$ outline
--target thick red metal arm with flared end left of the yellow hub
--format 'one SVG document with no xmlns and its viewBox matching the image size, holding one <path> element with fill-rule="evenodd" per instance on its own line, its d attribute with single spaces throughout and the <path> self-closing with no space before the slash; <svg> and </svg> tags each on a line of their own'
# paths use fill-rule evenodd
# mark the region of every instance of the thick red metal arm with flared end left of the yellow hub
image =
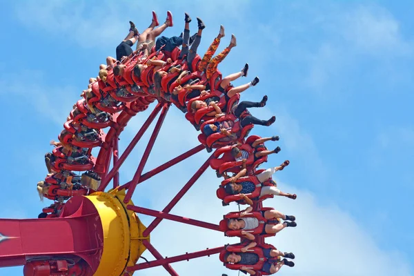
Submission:
<svg viewBox="0 0 414 276">
<path fill-rule="evenodd" d="M 44 255 L 72 261 L 80 257 L 90 275 L 99 265 L 103 248 L 101 219 L 85 197 L 72 197 L 59 218 L 0 219 L 0 225 L 0 267 L 21 266 Z"/>
</svg>

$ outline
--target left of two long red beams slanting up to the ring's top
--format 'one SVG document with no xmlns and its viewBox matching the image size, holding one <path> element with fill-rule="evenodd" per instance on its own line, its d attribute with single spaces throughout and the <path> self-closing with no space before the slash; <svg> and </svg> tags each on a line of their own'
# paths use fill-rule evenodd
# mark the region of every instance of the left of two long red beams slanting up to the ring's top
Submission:
<svg viewBox="0 0 414 276">
<path fill-rule="evenodd" d="M 105 190 L 106 186 L 108 186 L 109 181 L 112 180 L 112 178 L 118 172 L 121 165 L 124 164 L 124 161 L 125 161 L 126 157 L 128 157 L 128 155 L 130 155 L 132 150 L 137 145 L 139 139 L 141 139 L 142 135 L 144 135 L 144 133 L 146 132 L 146 130 L 148 129 L 148 127 L 150 126 L 152 121 L 154 121 L 155 117 L 157 117 L 157 114 L 158 114 L 159 110 L 161 110 L 161 108 L 162 108 L 161 103 L 158 103 L 157 106 L 155 106 L 154 110 L 152 110 L 152 112 L 151 112 L 150 116 L 148 117 L 148 119 L 146 119 L 145 123 L 141 126 L 141 129 L 139 129 L 139 131 L 137 132 L 137 135 L 135 135 L 134 139 L 132 139 L 132 141 L 130 142 L 128 147 L 122 153 L 121 157 L 119 157 L 119 160 L 117 161 L 117 164 L 113 164 L 112 170 L 110 170 L 110 172 L 108 172 L 108 175 L 106 175 L 106 177 L 104 177 L 102 179 L 101 185 L 99 186 L 99 189 L 98 189 L 99 191 Z"/>
</svg>

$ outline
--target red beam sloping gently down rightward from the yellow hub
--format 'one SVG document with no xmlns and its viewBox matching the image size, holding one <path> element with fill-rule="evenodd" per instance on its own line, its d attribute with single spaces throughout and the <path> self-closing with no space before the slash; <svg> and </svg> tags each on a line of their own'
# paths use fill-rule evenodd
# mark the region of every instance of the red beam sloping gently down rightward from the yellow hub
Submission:
<svg viewBox="0 0 414 276">
<path fill-rule="evenodd" d="M 136 213 L 140 213 L 140 214 L 144 214 L 144 215 L 150 215 L 152 217 L 159 217 L 161 219 L 170 219 L 172 221 L 181 222 L 183 224 L 190 224 L 190 225 L 193 225 L 193 226 L 198 226 L 198 227 L 207 228 L 207 229 L 210 229 L 210 230 L 216 230 L 216 231 L 222 232 L 217 224 L 210 224 L 208 222 L 199 221 L 197 219 L 189 219 L 188 217 L 180 217 L 180 216 L 177 216 L 177 215 L 171 215 L 171 214 L 168 214 L 168 213 L 164 213 L 164 212 L 160 212 L 160 211 L 156 211 L 156 210 L 151 210 L 151 209 L 147 209 L 147 208 L 143 208 L 143 207 L 133 206 L 133 205 L 128 205 L 126 208 L 128 210 L 133 210 Z"/>
</svg>

